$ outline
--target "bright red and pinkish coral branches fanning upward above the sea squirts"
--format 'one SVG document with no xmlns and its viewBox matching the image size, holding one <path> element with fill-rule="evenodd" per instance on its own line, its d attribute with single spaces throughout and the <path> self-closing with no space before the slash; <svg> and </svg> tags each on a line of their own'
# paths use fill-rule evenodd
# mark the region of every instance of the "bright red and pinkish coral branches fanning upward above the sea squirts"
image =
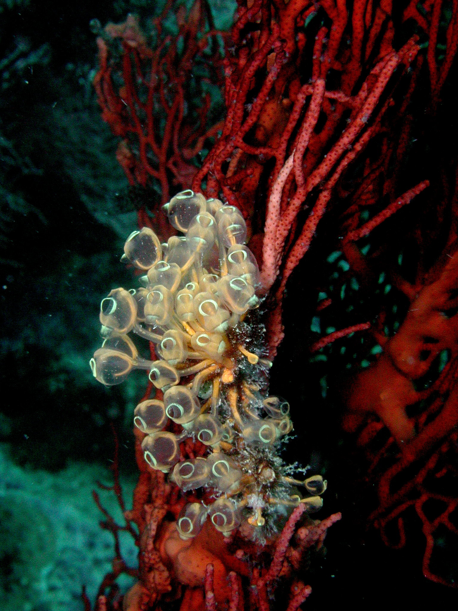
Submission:
<svg viewBox="0 0 458 611">
<path fill-rule="evenodd" d="M 308 2 L 275 4 L 275 21 L 269 12 L 263 12 L 262 2 L 253 4 L 250 15 L 257 15 L 258 24 L 246 32 L 242 23 L 254 18 L 243 13 L 242 22 L 233 31 L 234 42 L 244 40 L 243 54 L 230 55 L 226 60 L 227 120 L 193 181 L 193 188 L 199 190 L 206 180 L 209 195 L 222 194 L 242 210 L 252 222 L 253 232 L 261 230 L 265 210 L 261 280 L 264 291 L 274 288 L 275 295 L 268 327 L 271 356 L 283 337 L 281 302 L 286 282 L 310 248 L 319 221 L 335 205 L 338 181 L 383 130 L 385 115 L 393 105 L 388 90 L 392 96 L 402 82 L 403 71 L 415 62 L 419 51 L 415 37 L 398 51 L 390 48 L 390 39 L 385 37 L 373 65 L 368 64 L 380 21 L 376 13 L 374 21 L 366 16 L 363 22 L 362 12 L 357 12 L 352 27 L 369 32 L 371 48 L 362 48 L 363 33 L 358 32 L 352 55 L 338 61 L 347 28 L 345 3 L 338 4 L 337 9 L 327 2 L 322 3 L 322 9 L 319 6 L 315 10 L 324 10 L 335 24 L 329 40 L 325 38 L 327 27 L 317 31 L 310 59 L 305 56 L 305 46 L 289 38 L 280 44 L 278 34 L 278 24 L 288 29 L 292 23 L 302 23 L 306 12 L 313 14 Z M 357 57 L 366 59 L 357 61 Z M 297 76 L 291 79 L 289 75 L 294 75 L 296 65 L 304 61 L 309 62 L 310 81 L 303 84 Z M 340 71 L 341 89 L 327 89 L 330 70 Z M 357 86 L 363 70 L 366 78 Z M 262 83 L 260 87 L 257 81 Z M 336 133 L 344 120 L 343 131 Z M 253 207 L 253 202 L 265 197 L 259 180 L 271 160 L 275 166 L 267 181 L 266 203 Z M 391 208 L 381 213 L 380 220 L 390 213 Z"/>
</svg>

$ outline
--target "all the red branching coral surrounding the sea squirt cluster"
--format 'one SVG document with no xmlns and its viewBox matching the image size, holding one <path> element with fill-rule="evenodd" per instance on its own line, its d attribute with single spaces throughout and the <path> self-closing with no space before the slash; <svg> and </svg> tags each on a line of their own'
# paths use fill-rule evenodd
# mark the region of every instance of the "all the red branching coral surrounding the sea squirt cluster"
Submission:
<svg viewBox="0 0 458 611">
<path fill-rule="evenodd" d="M 183 51 L 177 39 L 163 31 L 161 18 L 153 24 L 152 47 L 134 18 L 111 24 L 99 39 L 101 67 L 95 86 L 104 119 L 122 138 L 118 160 L 129 181 L 140 185 L 150 181 L 161 192 L 162 203 L 169 200 L 173 184 L 178 190 L 192 181 L 194 191 L 221 197 L 244 215 L 250 247 L 261 264 L 271 357 L 283 338 L 282 300 L 288 281 L 320 238 L 324 223 L 328 243 L 342 240 L 349 265 L 370 284 L 376 273 L 355 241 L 382 231 L 400 208 L 413 208 L 405 206 L 413 197 L 419 197 L 418 207 L 424 202 L 429 177 L 405 183 L 402 159 L 412 144 L 409 113 L 413 102 L 418 103 L 422 66 L 429 70 L 432 95 L 420 106 L 422 112 L 434 112 L 456 54 L 455 1 L 452 9 L 447 23 L 442 0 L 411 2 L 404 12 L 404 20 L 412 26 L 406 35 L 390 2 L 241 1 L 224 59 L 219 35 L 200 2 L 187 16 L 181 9 L 178 13 Z M 442 57 L 438 46 L 443 39 Z M 117 43 L 122 63 L 114 59 Z M 213 68 L 224 67 L 224 122 L 207 124 L 208 99 L 187 112 L 192 96 L 186 85 L 198 62 L 218 83 L 218 70 Z M 199 168 L 195 156 L 212 142 Z M 396 197 L 399 192 L 404 195 Z M 139 220 L 150 223 L 145 210 Z M 402 544 L 402 514 L 415 507 L 427 538 L 427 573 L 435 530 L 439 525 L 451 532 L 455 528 L 453 500 L 435 497 L 426 481 L 431 474 L 442 477 L 442 469 L 449 474 L 455 451 L 451 440 L 458 424 L 456 313 L 452 313 L 457 307 L 456 240 L 449 240 L 448 251 L 451 261 L 442 262 L 429 277 L 419 274 L 412 284 L 398 278 L 411 299 L 409 313 L 394 337 L 385 337 L 382 315 L 371 326 L 382 354 L 373 367 L 355 376 L 346 419 L 346 428 L 357 430 L 365 426 L 368 414 L 379 417 L 381 422 L 373 419 L 363 430 L 360 441 L 366 447 L 383 425 L 390 431 L 390 439 L 371 457 L 371 472 L 399 446 L 392 466 L 380 475 L 380 507 L 373 519 L 383 536 L 385 526 L 398 519 Z M 324 349 L 338 338 L 368 328 L 369 323 L 346 326 L 312 349 Z M 426 375 L 446 349 L 451 358 L 437 382 L 428 392 L 416 389 L 414 381 Z M 150 390 L 148 386 L 145 399 Z M 429 407 L 411 415 L 408 408 L 422 400 L 431 400 Z M 237 405 L 231 408 L 237 414 Z M 140 447 L 143 435 L 138 431 L 136 435 L 140 477 L 133 509 L 125 516 L 140 533 L 139 582 L 126 595 L 125 608 L 147 609 L 180 599 L 182 611 L 217 606 L 234 611 L 246 599 L 253 609 L 267 611 L 283 580 L 289 587 L 285 608 L 296 611 L 310 594 L 297 573 L 310 547 L 322 545 L 327 528 L 340 515 L 322 522 L 304 521 L 304 506 L 299 505 L 282 532 L 266 541 L 263 557 L 261 544 L 249 543 L 242 533 L 224 537 L 204 525 L 194 539 L 181 539 L 175 523 L 180 511 L 190 500 L 202 502 L 202 498 L 193 496 L 193 491 L 182 494 L 164 474 L 150 469 Z M 189 439 L 180 446 L 182 459 L 194 459 L 204 451 Z M 394 478 L 420 459 L 426 471 L 420 470 L 393 491 Z M 433 498 L 446 503 L 446 508 L 431 521 L 423 506 Z M 116 540 L 121 527 L 105 517 L 105 527 Z M 114 585 L 115 573 L 104 585 L 102 598 Z M 432 576 L 431 571 L 428 574 Z"/>
</svg>

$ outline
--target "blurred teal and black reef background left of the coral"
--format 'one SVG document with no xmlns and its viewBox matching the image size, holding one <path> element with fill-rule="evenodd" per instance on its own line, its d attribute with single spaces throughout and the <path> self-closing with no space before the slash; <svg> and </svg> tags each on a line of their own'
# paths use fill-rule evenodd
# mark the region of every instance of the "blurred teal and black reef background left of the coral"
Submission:
<svg viewBox="0 0 458 611">
<path fill-rule="evenodd" d="M 214 2 L 220 27 L 234 3 Z M 100 118 L 92 20 L 158 12 L 151 2 L 0 0 L 0 608 L 83 609 L 113 558 L 92 498 L 110 484 L 114 426 L 126 504 L 137 470 L 141 376 L 107 390 L 89 359 L 136 202 Z M 144 196 L 144 195 L 143 195 Z M 141 381 L 140 381 L 141 380 Z M 139 387 L 137 386 L 139 382 Z M 119 516 L 114 494 L 104 506 Z M 136 548 L 123 540 L 136 566 Z M 120 584 L 127 588 L 128 583 Z"/>
</svg>

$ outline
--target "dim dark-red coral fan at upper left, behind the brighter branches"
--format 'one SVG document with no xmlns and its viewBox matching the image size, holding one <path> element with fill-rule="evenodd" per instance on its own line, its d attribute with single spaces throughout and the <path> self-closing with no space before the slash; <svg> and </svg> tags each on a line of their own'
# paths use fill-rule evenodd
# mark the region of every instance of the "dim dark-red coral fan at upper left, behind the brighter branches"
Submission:
<svg viewBox="0 0 458 611">
<path fill-rule="evenodd" d="M 203 2 L 195 2 L 189 14 L 180 5 L 173 12 L 176 34 L 165 32 L 172 4 L 153 20 L 148 37 L 133 15 L 125 23 L 107 24 L 97 40 L 100 67 L 94 79 L 102 118 L 122 138 L 117 159 L 129 183 L 152 185 L 160 203 L 169 201 L 170 188 L 189 185 L 195 156 L 220 129 L 209 124 L 209 93 L 202 91 L 196 103 L 191 87 L 219 84 L 224 33 L 211 29 Z M 165 232 L 165 219 L 157 214 Z"/>
</svg>

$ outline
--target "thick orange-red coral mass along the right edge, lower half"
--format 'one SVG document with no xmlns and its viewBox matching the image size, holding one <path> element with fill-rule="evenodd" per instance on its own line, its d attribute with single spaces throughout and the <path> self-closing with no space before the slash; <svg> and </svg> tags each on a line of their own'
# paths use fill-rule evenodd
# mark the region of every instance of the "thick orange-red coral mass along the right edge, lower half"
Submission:
<svg viewBox="0 0 458 611">
<path fill-rule="evenodd" d="M 383 345 L 379 358 L 352 379 L 346 393 L 350 411 L 344 427 L 349 431 L 360 428 L 359 443 L 366 448 L 369 473 L 379 474 L 379 507 L 371 519 L 383 540 L 392 544 L 387 530 L 395 522 L 399 540 L 392 545 L 404 546 L 404 516 L 413 508 L 426 536 L 424 574 L 438 583 L 454 585 L 430 568 L 437 529 L 442 525 L 457 533 L 452 516 L 457 499 L 438 494 L 437 486 L 442 480 L 449 490 L 456 480 L 458 252 L 448 251 L 446 247 L 423 287 L 416 285 L 415 294 L 409 291 L 409 311 L 396 335 Z M 445 354 L 446 364 L 437 369 L 438 358 Z M 420 390 L 417 381 L 424 376 L 431 376 L 432 383 Z M 410 415 L 412 406 L 418 408 Z M 377 414 L 391 434 L 377 450 L 382 428 L 365 422 L 370 412 Z M 405 474 L 410 475 L 406 478 Z M 442 504 L 434 519 L 425 510 L 432 500 Z"/>
</svg>

